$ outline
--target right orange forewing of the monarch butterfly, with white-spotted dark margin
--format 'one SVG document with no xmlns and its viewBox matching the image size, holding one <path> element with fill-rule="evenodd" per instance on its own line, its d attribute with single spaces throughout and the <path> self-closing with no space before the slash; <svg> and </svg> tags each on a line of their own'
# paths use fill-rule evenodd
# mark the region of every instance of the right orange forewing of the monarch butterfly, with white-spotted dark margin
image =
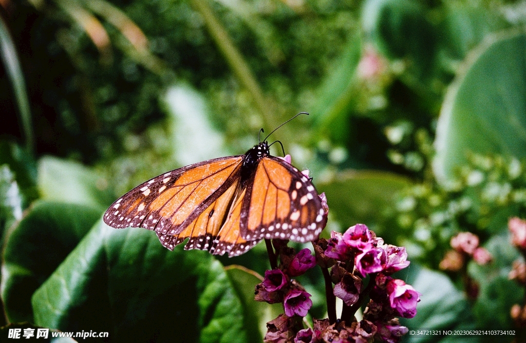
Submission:
<svg viewBox="0 0 526 343">
<path fill-rule="evenodd" d="M 247 186 L 241 235 L 262 238 L 313 240 L 322 230 L 323 209 L 310 179 L 282 159 L 261 159 Z"/>
</svg>

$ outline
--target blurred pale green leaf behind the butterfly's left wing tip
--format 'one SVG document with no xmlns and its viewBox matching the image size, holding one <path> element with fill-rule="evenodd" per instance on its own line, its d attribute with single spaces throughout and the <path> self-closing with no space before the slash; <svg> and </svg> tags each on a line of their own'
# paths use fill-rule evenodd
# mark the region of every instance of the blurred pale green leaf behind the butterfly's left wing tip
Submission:
<svg viewBox="0 0 526 343">
<path fill-rule="evenodd" d="M 114 196 L 107 180 L 80 163 L 51 156 L 38 162 L 38 188 L 42 198 L 106 209 Z"/>
</svg>

